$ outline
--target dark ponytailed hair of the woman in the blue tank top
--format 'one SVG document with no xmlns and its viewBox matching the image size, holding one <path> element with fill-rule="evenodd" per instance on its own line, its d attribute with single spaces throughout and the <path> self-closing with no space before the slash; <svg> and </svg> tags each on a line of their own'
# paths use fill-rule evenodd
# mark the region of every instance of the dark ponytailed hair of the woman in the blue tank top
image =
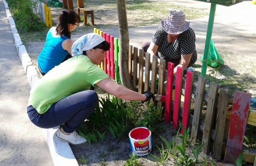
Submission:
<svg viewBox="0 0 256 166">
<path fill-rule="evenodd" d="M 59 24 L 56 28 L 57 35 L 68 36 L 70 38 L 70 31 L 68 30 L 68 24 L 76 24 L 80 22 L 80 16 L 73 10 L 62 11 L 59 16 Z"/>
</svg>

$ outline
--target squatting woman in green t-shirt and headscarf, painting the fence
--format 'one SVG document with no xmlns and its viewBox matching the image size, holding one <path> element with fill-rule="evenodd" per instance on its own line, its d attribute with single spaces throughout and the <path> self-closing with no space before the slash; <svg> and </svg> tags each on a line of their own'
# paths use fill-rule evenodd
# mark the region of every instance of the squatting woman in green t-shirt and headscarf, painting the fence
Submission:
<svg viewBox="0 0 256 166">
<path fill-rule="evenodd" d="M 98 105 L 98 86 L 125 100 L 149 101 L 151 92 L 137 93 L 118 85 L 100 67 L 110 46 L 98 34 L 82 36 L 72 45 L 73 58 L 54 67 L 32 89 L 27 107 L 30 121 L 41 128 L 60 125 L 56 138 L 72 145 L 82 145 L 86 139 L 75 131 Z"/>
</svg>

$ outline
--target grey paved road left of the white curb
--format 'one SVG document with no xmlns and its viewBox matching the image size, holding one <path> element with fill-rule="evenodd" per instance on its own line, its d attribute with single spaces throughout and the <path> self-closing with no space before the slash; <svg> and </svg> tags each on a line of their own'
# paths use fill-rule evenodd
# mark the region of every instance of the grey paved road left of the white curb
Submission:
<svg viewBox="0 0 256 166">
<path fill-rule="evenodd" d="M 42 130 L 26 114 L 30 86 L 0 0 L 0 165 L 53 166 Z"/>
</svg>

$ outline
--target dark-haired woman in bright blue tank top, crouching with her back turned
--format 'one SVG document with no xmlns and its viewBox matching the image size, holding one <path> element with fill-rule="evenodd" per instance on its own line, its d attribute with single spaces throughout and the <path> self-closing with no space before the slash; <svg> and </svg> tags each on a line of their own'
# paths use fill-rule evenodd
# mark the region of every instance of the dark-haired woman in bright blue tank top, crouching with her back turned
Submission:
<svg viewBox="0 0 256 166">
<path fill-rule="evenodd" d="M 62 11 L 59 16 L 59 24 L 52 27 L 47 33 L 44 48 L 38 55 L 38 68 L 45 75 L 55 66 L 67 58 L 72 57 L 70 32 L 79 26 L 80 16 L 73 10 Z"/>
</svg>

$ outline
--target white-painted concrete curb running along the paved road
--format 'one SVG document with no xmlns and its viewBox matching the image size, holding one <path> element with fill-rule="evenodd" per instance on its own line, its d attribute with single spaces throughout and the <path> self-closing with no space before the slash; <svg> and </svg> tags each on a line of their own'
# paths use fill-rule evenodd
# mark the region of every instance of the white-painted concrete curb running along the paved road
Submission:
<svg viewBox="0 0 256 166">
<path fill-rule="evenodd" d="M 18 34 L 18 30 L 10 13 L 7 2 L 3 0 L 3 3 L 6 9 L 6 16 L 9 20 L 10 28 L 12 30 L 16 50 L 20 57 L 24 72 L 27 75 L 30 89 L 32 89 L 40 79 L 38 72 L 36 67 L 32 64 L 32 61 L 26 51 L 26 47 L 22 45 L 20 35 Z M 50 150 L 50 154 L 52 156 L 54 166 L 79 166 L 69 144 L 55 138 L 54 133 L 56 130 L 57 129 L 52 128 L 42 129 Z"/>
</svg>

